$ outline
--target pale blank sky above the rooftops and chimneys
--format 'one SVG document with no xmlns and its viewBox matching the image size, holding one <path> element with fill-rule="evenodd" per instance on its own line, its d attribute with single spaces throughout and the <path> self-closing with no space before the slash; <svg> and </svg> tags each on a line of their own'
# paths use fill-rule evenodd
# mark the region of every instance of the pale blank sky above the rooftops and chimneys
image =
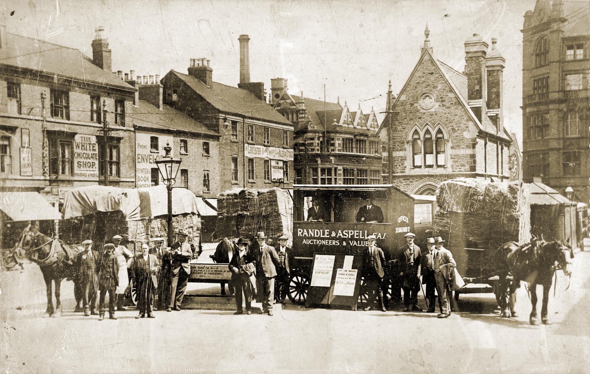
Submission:
<svg viewBox="0 0 590 374">
<path fill-rule="evenodd" d="M 504 125 L 522 139 L 523 15 L 535 0 L 175 1 L 5 0 L 9 32 L 78 48 L 92 56 L 99 25 L 113 71 L 186 73 L 190 58 L 211 60 L 213 79 L 237 86 L 240 34 L 250 35 L 251 81 L 289 80 L 289 91 L 350 110 L 385 110 L 420 55 L 428 22 L 434 55 L 463 71 L 463 42 L 477 32 L 506 58 Z M 14 15 L 9 14 L 14 11 Z M 381 97 L 379 97 L 381 95 Z M 377 97 L 376 99 L 374 99 Z M 382 116 L 382 115 L 381 115 Z M 380 116 L 380 118 L 381 118 Z"/>
</svg>

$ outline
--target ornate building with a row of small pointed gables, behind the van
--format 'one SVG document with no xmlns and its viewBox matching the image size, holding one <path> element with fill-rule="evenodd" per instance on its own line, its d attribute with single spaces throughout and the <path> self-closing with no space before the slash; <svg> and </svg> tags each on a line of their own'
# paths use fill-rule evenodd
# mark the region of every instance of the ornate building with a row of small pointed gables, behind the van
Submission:
<svg viewBox="0 0 590 374">
<path fill-rule="evenodd" d="M 271 80 L 271 104 L 294 125 L 295 183 L 381 183 L 381 140 L 375 111 L 292 95 L 287 80 Z M 329 139 L 326 142 L 325 139 Z"/>
</svg>

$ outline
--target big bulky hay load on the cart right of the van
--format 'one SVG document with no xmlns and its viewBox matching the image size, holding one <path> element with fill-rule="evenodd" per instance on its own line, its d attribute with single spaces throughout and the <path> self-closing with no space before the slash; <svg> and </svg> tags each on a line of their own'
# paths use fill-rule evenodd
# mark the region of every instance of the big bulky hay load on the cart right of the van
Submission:
<svg viewBox="0 0 590 374">
<path fill-rule="evenodd" d="M 493 274 L 494 255 L 500 245 L 530 241 L 525 183 L 451 179 L 438 188 L 437 204 L 440 209 L 434 215 L 434 234 L 447 241 L 445 247 L 453 253 L 463 277 Z M 480 283 L 493 283 L 493 275 L 490 278 Z"/>
</svg>

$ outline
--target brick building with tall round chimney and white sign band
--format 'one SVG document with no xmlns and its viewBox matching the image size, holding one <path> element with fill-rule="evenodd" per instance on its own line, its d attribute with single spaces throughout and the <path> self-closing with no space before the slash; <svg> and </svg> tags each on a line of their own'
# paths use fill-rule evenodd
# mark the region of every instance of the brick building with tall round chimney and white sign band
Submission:
<svg viewBox="0 0 590 374">
<path fill-rule="evenodd" d="M 248 35 L 240 35 L 240 83 L 213 81 L 209 60 L 191 59 L 188 74 L 161 80 L 164 102 L 219 134 L 221 191 L 293 182 L 293 124 L 266 103 L 264 83 L 250 82 Z"/>
</svg>

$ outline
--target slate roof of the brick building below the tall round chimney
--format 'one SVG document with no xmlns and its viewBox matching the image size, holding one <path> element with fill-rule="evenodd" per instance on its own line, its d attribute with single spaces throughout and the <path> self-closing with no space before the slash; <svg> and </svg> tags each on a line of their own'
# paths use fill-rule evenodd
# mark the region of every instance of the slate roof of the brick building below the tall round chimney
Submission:
<svg viewBox="0 0 590 374">
<path fill-rule="evenodd" d="M 217 82 L 213 82 L 211 88 L 193 76 L 171 71 L 219 111 L 293 126 L 278 111 L 248 90 Z"/>
</svg>

